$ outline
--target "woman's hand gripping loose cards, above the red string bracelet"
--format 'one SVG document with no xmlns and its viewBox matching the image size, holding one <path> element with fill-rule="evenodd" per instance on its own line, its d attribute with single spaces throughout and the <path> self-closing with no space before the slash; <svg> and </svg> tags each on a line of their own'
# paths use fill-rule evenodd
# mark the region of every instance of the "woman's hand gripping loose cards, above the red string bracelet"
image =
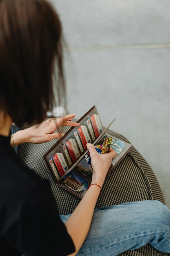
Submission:
<svg viewBox="0 0 170 256">
<path fill-rule="evenodd" d="M 111 165 L 113 158 L 116 156 L 116 151 L 110 148 L 109 153 L 107 154 L 99 154 L 95 150 L 94 145 L 87 143 L 87 148 L 90 152 L 93 176 L 92 183 L 97 183 L 100 186 L 103 185 L 105 181 L 106 174 Z"/>
</svg>

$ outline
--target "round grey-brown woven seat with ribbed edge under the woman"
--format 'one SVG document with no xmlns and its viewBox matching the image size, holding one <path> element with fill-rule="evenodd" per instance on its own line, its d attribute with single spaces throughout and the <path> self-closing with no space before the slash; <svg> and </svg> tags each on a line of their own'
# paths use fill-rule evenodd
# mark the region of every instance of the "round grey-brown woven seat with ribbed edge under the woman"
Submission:
<svg viewBox="0 0 170 256">
<path fill-rule="evenodd" d="M 21 129 L 28 128 L 25 124 Z M 59 128 L 57 131 L 65 132 L 68 128 Z M 124 136 L 109 130 L 110 135 L 125 142 Z M 43 155 L 50 149 L 56 140 L 45 144 L 22 144 L 18 154 L 24 164 L 51 184 L 52 193 L 57 201 L 60 214 L 72 213 L 80 199 L 56 185 L 50 171 L 43 159 Z M 132 148 L 127 156 L 120 162 L 115 170 L 106 179 L 102 192 L 98 198 L 96 209 L 125 202 L 140 200 L 160 200 L 165 204 L 164 196 L 158 180 L 152 169 L 139 152 Z M 163 256 L 170 255 L 157 251 L 149 244 L 137 250 L 126 251 L 121 256 Z"/>
</svg>

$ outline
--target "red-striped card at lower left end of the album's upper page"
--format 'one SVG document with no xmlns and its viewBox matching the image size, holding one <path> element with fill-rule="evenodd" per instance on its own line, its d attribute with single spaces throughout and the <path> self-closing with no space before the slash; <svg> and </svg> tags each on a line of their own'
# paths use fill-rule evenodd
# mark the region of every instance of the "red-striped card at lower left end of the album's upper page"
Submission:
<svg viewBox="0 0 170 256">
<path fill-rule="evenodd" d="M 50 165 L 57 179 L 68 170 L 67 163 L 62 153 L 55 154 L 53 158 L 50 159 Z"/>
</svg>

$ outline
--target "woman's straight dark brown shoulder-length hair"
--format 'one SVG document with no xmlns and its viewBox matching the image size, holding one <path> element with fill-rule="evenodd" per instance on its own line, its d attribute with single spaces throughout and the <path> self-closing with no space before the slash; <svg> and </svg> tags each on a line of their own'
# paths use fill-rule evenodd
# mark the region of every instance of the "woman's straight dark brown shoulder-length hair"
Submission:
<svg viewBox="0 0 170 256">
<path fill-rule="evenodd" d="M 62 27 L 52 5 L 46 0 L 0 0 L 0 110 L 17 125 L 41 122 L 55 105 L 53 75 L 61 104 Z"/>
</svg>

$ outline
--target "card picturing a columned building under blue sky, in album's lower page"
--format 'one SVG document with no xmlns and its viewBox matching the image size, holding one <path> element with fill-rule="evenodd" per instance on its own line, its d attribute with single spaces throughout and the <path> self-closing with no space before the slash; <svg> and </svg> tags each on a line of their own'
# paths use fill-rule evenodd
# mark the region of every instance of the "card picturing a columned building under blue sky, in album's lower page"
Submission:
<svg viewBox="0 0 170 256">
<path fill-rule="evenodd" d="M 89 187 L 89 182 L 77 173 L 71 171 L 69 172 L 61 181 L 65 187 L 71 189 L 78 195 L 83 194 L 85 190 Z"/>
</svg>

